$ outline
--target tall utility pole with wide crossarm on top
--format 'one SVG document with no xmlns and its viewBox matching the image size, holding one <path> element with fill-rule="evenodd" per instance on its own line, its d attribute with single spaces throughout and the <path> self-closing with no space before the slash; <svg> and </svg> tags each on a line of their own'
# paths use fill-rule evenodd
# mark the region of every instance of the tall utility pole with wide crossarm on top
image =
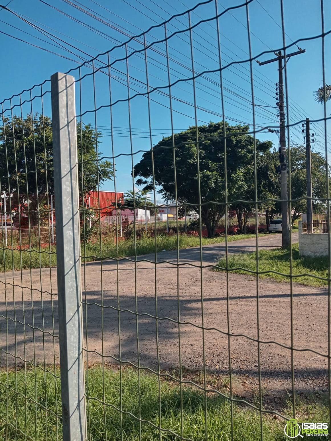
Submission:
<svg viewBox="0 0 331 441">
<path fill-rule="evenodd" d="M 297 52 L 282 55 L 282 52 L 275 52 L 277 58 L 271 60 L 257 61 L 260 66 L 263 64 L 273 63 L 278 61 L 278 75 L 279 75 L 279 134 L 280 134 L 280 148 L 279 148 L 279 163 L 281 174 L 281 199 L 282 199 L 282 247 L 290 247 L 290 224 L 289 224 L 289 206 L 287 195 L 287 165 L 286 165 L 286 132 L 285 132 L 285 110 L 284 110 L 284 82 L 283 82 L 283 60 L 288 62 L 291 56 L 299 55 L 306 52 L 305 49 L 301 49 Z"/>
</svg>

